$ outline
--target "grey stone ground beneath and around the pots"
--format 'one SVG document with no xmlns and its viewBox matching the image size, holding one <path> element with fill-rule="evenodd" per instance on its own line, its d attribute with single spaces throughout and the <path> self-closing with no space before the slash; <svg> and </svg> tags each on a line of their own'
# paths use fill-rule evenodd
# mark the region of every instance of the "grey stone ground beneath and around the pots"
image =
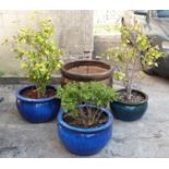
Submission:
<svg viewBox="0 0 169 169">
<path fill-rule="evenodd" d="M 19 85 L 0 86 L 0 157 L 79 157 L 64 149 L 57 136 L 56 120 L 32 124 L 15 108 Z M 145 76 L 137 85 L 149 96 L 149 107 L 135 122 L 114 120 L 108 145 L 90 157 L 169 157 L 169 81 Z"/>
</svg>

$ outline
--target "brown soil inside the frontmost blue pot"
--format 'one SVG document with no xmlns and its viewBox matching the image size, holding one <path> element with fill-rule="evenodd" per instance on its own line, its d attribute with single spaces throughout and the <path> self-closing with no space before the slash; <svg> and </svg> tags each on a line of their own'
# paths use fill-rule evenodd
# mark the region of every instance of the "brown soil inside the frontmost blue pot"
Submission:
<svg viewBox="0 0 169 169">
<path fill-rule="evenodd" d="M 72 113 L 64 113 L 63 120 L 72 126 L 89 129 L 97 128 L 108 121 L 108 116 L 100 110 L 94 108 L 77 109 L 79 116 L 74 117 Z"/>
</svg>

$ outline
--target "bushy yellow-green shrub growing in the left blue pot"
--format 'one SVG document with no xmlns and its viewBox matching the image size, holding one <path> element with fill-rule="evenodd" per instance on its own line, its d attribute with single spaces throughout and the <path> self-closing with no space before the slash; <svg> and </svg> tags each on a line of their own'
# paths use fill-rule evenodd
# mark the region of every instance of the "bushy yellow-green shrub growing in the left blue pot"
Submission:
<svg viewBox="0 0 169 169">
<path fill-rule="evenodd" d="M 62 50 L 51 39 L 53 31 L 50 19 L 37 20 L 35 27 L 21 28 L 11 40 L 7 40 L 12 44 L 21 68 L 35 83 L 39 98 L 45 96 L 52 72 L 62 65 Z"/>
</svg>

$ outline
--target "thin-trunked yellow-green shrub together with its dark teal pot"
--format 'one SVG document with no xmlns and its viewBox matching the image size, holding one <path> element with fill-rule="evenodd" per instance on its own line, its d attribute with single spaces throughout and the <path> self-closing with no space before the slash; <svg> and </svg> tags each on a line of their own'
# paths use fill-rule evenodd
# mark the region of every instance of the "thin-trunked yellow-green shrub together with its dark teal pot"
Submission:
<svg viewBox="0 0 169 169">
<path fill-rule="evenodd" d="M 113 77 L 122 81 L 124 87 L 118 90 L 119 98 L 110 107 L 117 119 L 134 121 L 144 114 L 148 101 L 145 93 L 133 88 L 134 80 L 144 69 L 158 67 L 157 60 L 165 53 L 159 51 L 158 46 L 150 45 L 138 22 L 130 27 L 122 25 L 120 31 L 120 47 L 110 48 L 105 53 L 116 68 Z"/>
</svg>

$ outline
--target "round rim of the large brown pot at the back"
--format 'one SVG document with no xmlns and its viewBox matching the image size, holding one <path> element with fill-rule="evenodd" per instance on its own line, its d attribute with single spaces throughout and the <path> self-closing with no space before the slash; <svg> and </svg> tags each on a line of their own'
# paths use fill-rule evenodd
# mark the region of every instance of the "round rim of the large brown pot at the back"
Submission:
<svg viewBox="0 0 169 169">
<path fill-rule="evenodd" d="M 93 74 L 79 74 L 79 73 L 72 73 L 69 71 L 69 69 L 74 68 L 72 67 L 72 64 L 77 63 L 80 65 L 83 65 L 83 63 L 86 62 L 92 62 L 92 63 L 98 63 L 98 64 L 102 64 L 105 67 L 107 67 L 108 69 L 105 72 L 101 73 L 93 73 Z M 65 76 L 65 77 L 75 77 L 80 81 L 83 81 L 84 79 L 88 80 L 93 80 L 95 76 L 95 80 L 105 80 L 107 77 L 109 77 L 112 74 L 112 67 L 110 64 L 108 64 L 105 61 L 100 61 L 100 60 L 75 60 L 75 61 L 70 61 L 67 62 L 63 67 L 61 67 L 61 73 Z"/>
</svg>

